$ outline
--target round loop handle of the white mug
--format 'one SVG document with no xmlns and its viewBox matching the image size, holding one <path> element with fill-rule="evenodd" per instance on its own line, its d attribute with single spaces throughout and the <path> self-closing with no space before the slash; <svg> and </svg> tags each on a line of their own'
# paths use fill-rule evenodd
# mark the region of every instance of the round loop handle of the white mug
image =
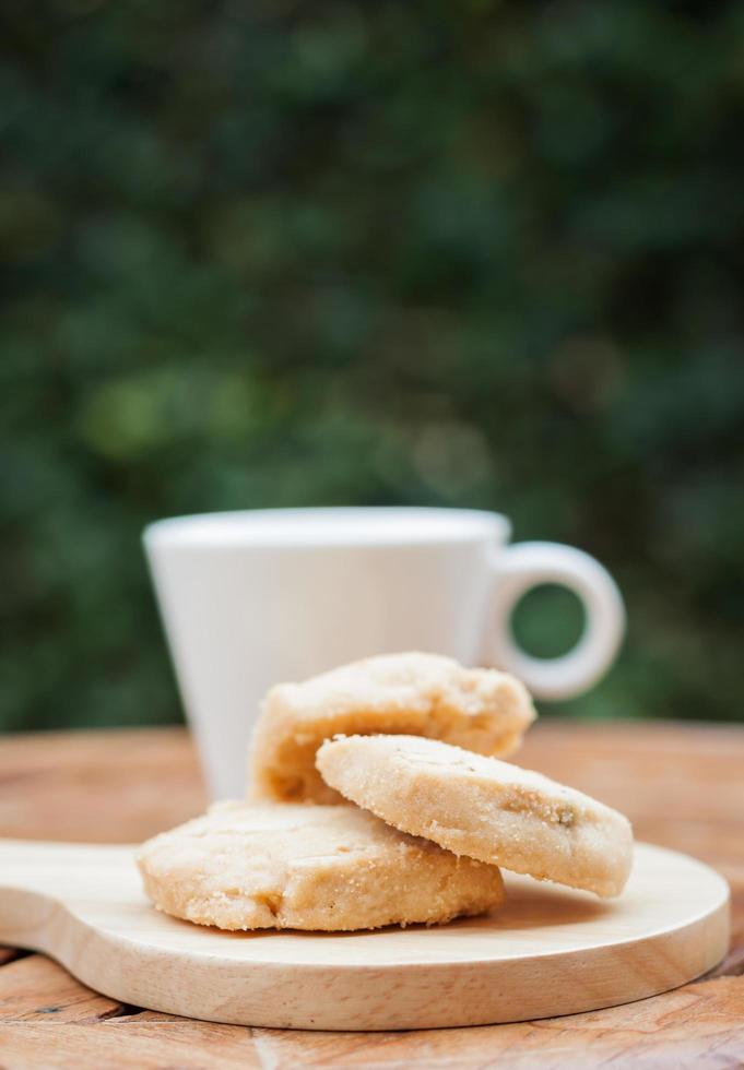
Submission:
<svg viewBox="0 0 744 1070">
<path fill-rule="evenodd" d="M 493 632 L 486 659 L 513 673 L 538 699 L 568 699 L 597 682 L 614 661 L 625 632 L 625 606 L 617 584 L 599 561 L 559 543 L 517 543 L 494 562 Z M 532 657 L 515 642 L 511 614 L 531 587 L 557 583 L 582 602 L 583 634 L 560 657 Z"/>
</svg>

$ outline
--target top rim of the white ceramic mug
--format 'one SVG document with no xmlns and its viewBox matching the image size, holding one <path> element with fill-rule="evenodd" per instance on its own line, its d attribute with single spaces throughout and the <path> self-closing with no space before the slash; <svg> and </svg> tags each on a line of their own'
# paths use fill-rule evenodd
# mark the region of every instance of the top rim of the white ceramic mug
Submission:
<svg viewBox="0 0 744 1070">
<path fill-rule="evenodd" d="M 362 523 L 364 516 L 373 514 L 376 518 L 375 530 L 365 528 Z M 300 520 L 305 523 L 298 523 Z M 336 523 L 331 526 L 329 521 Z M 345 523 L 340 524 L 339 521 Z M 457 545 L 482 542 L 484 538 L 506 543 L 510 534 L 509 519 L 485 509 L 312 506 L 168 516 L 147 524 L 142 539 L 147 549 L 180 546 L 189 549 L 298 550 Z"/>
</svg>

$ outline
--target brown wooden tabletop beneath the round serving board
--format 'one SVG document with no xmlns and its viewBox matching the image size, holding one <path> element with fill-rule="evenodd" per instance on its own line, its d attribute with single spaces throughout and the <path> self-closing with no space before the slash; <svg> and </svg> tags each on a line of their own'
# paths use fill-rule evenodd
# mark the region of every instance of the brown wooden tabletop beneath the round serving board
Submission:
<svg viewBox="0 0 744 1070">
<path fill-rule="evenodd" d="M 569 1018 L 311 1033 L 122 1006 L 43 955 L 0 948 L 0 1070 L 744 1066 L 744 727 L 544 721 L 519 761 L 618 807 L 639 839 L 697 855 L 728 878 L 733 941 L 718 970 L 676 991 Z M 126 843 L 203 805 L 179 728 L 0 739 L 0 836 Z"/>
</svg>

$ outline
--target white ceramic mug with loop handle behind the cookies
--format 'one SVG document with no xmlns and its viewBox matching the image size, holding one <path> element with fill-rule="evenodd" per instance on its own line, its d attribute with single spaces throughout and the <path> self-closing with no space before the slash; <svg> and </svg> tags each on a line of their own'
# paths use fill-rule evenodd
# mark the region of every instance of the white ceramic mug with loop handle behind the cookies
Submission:
<svg viewBox="0 0 744 1070">
<path fill-rule="evenodd" d="M 144 533 L 186 712 L 213 796 L 241 796 L 263 694 L 391 651 L 449 654 L 521 677 L 536 698 L 584 691 L 625 614 L 610 574 L 555 543 L 508 545 L 509 521 L 454 509 L 275 509 L 182 516 Z M 541 583 L 574 591 L 583 635 L 562 657 L 521 651 L 511 610 Z"/>
</svg>

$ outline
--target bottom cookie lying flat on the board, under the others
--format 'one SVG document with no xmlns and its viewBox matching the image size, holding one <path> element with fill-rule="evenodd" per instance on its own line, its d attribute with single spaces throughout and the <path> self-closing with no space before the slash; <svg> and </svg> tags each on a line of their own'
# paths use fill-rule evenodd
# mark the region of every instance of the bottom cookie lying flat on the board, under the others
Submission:
<svg viewBox="0 0 744 1070">
<path fill-rule="evenodd" d="M 147 841 L 138 865 L 158 910 L 221 929 L 433 924 L 504 899 L 495 866 L 344 805 L 219 802 Z"/>
</svg>

